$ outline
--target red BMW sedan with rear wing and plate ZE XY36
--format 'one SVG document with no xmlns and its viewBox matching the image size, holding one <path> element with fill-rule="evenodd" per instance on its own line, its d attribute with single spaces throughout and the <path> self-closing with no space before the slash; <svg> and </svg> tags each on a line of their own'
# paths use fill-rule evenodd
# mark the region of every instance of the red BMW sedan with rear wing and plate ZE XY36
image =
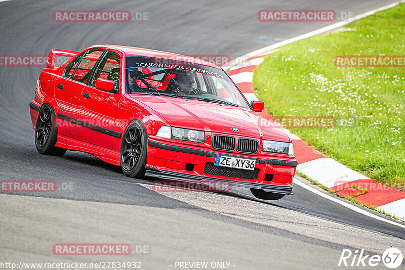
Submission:
<svg viewBox="0 0 405 270">
<path fill-rule="evenodd" d="M 68 60 L 56 67 L 58 57 Z M 41 154 L 83 151 L 130 177 L 292 195 L 292 141 L 261 126 L 264 103 L 249 104 L 212 63 L 122 46 L 54 49 L 29 107 Z"/>
</svg>

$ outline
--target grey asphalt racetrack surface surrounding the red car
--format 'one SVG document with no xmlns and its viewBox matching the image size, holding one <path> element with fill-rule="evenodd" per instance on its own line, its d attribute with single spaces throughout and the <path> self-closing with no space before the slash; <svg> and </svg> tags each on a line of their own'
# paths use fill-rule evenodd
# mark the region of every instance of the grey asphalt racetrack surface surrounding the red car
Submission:
<svg viewBox="0 0 405 270">
<path fill-rule="evenodd" d="M 120 44 L 234 59 L 333 23 L 259 22 L 259 10 L 358 15 L 393 1 L 111 3 L 0 2 L 0 55 L 48 55 L 54 48 L 80 51 L 92 44 Z M 134 20 L 54 22 L 55 10 L 129 10 Z M 137 13 L 147 14 L 147 20 L 137 20 Z M 0 179 L 54 180 L 64 189 L 0 195 L 2 262 L 119 260 L 139 261 L 143 269 L 176 269 L 180 261 L 214 261 L 229 262 L 232 269 L 325 269 L 339 268 L 343 249 L 380 255 L 389 247 L 405 250 L 403 227 L 298 185 L 295 196 L 274 202 L 256 200 L 249 190 L 158 193 L 152 190 L 153 179 L 128 178 L 119 167 L 88 154 L 41 155 L 35 149 L 28 107 L 41 70 L 0 67 Z M 129 243 L 133 250 L 147 246 L 148 252 L 108 258 L 55 256 L 56 243 Z M 374 268 L 384 267 L 380 263 Z"/>
</svg>

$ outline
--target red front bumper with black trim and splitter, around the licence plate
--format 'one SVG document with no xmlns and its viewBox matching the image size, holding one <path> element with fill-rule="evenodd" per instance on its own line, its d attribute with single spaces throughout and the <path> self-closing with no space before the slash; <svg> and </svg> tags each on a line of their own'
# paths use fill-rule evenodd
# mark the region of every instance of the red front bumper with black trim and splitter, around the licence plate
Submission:
<svg viewBox="0 0 405 270">
<path fill-rule="evenodd" d="M 253 172 L 213 166 L 217 154 L 256 159 L 255 170 Z M 273 159 L 263 155 L 226 153 L 148 138 L 145 175 L 199 185 L 222 182 L 232 187 L 263 189 L 267 192 L 293 195 L 292 181 L 297 163 L 291 158 Z"/>
</svg>

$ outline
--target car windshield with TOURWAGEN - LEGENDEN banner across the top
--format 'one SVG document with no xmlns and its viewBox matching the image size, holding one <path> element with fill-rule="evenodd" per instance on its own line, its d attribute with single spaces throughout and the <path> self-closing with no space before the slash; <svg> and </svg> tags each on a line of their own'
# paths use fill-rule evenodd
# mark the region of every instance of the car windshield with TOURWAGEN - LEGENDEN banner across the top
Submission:
<svg viewBox="0 0 405 270">
<path fill-rule="evenodd" d="M 126 91 L 250 108 L 223 70 L 172 59 L 126 57 Z"/>
</svg>

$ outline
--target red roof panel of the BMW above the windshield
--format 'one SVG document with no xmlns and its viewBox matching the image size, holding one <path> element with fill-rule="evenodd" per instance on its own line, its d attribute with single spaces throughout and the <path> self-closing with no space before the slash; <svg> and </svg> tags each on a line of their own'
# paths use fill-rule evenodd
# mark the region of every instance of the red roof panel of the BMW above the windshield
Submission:
<svg viewBox="0 0 405 270">
<path fill-rule="evenodd" d="M 111 49 L 120 50 L 120 51 L 124 52 L 126 54 L 126 56 L 145 56 L 145 57 L 156 57 L 156 58 L 164 58 L 164 59 L 175 59 L 175 60 L 179 60 L 179 61 L 184 61 L 184 62 L 189 62 L 189 63 L 194 63 L 194 64 L 202 64 L 202 65 L 206 65 L 206 66 L 210 66 L 210 67 L 219 68 L 219 66 L 217 66 L 211 62 L 202 60 L 202 59 L 194 58 L 191 56 L 169 53 L 169 52 L 129 47 L 129 46 L 119 46 L 119 45 L 92 46 L 92 48 L 94 48 L 94 47 L 103 47 L 104 49 L 111 48 Z"/>
</svg>

